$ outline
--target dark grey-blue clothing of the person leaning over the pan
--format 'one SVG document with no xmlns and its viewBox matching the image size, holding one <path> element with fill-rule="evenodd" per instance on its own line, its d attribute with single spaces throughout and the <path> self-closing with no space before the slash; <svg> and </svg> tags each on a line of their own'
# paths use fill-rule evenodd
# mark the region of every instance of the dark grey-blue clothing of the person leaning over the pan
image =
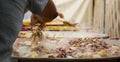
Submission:
<svg viewBox="0 0 120 62">
<path fill-rule="evenodd" d="M 24 10 L 43 11 L 48 0 L 0 0 L 0 62 L 9 62 L 12 45 L 22 27 Z"/>
</svg>

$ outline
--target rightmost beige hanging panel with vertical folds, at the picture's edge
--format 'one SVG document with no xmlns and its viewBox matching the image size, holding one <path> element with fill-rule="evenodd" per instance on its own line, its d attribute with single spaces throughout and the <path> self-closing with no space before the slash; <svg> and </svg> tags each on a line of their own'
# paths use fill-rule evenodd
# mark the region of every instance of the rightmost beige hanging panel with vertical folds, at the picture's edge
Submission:
<svg viewBox="0 0 120 62">
<path fill-rule="evenodd" d="M 105 33 L 120 36 L 120 0 L 106 0 Z"/>
</svg>

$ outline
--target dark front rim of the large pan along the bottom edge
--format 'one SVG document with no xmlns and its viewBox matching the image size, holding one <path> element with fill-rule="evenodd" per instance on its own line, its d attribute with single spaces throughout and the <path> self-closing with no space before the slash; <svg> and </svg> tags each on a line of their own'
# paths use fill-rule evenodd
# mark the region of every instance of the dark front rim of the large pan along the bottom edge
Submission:
<svg viewBox="0 0 120 62">
<path fill-rule="evenodd" d="M 120 57 L 83 58 L 83 59 L 12 57 L 12 59 L 16 59 L 18 60 L 18 62 L 120 62 Z"/>
</svg>

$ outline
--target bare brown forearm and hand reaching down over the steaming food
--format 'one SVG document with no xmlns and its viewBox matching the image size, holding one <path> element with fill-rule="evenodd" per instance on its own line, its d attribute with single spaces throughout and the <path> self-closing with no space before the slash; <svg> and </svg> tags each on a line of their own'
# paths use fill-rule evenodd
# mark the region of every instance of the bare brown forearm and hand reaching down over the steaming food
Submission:
<svg viewBox="0 0 120 62">
<path fill-rule="evenodd" d="M 31 25 L 35 26 L 36 24 L 41 24 L 43 28 L 46 22 L 51 22 L 54 18 L 58 16 L 57 9 L 52 0 L 48 0 L 48 3 L 44 10 L 39 14 L 33 14 L 31 17 Z"/>
</svg>

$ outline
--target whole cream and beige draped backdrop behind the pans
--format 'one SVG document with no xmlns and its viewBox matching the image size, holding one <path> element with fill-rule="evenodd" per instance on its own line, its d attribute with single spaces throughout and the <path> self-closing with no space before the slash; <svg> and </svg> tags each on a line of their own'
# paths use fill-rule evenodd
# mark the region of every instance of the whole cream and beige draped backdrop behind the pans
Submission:
<svg viewBox="0 0 120 62">
<path fill-rule="evenodd" d="M 64 18 L 56 19 L 76 23 L 79 29 L 91 29 L 109 36 L 120 36 L 120 0 L 53 0 Z M 25 15 L 24 21 L 30 19 Z"/>
</svg>

